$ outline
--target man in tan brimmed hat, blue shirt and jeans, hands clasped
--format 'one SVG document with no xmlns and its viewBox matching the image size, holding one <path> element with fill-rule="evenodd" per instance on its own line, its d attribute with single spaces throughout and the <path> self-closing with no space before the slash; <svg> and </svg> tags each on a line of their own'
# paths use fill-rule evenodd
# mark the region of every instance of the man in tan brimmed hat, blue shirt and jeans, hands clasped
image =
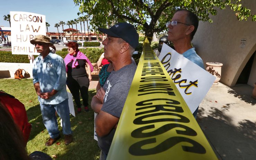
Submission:
<svg viewBox="0 0 256 160">
<path fill-rule="evenodd" d="M 62 119 L 65 144 L 73 141 L 68 96 L 66 91 L 66 68 L 61 56 L 49 49 L 50 39 L 37 35 L 30 41 L 40 55 L 34 60 L 33 83 L 40 102 L 44 125 L 50 135 L 45 146 L 51 146 L 60 138 L 55 111 Z"/>
</svg>

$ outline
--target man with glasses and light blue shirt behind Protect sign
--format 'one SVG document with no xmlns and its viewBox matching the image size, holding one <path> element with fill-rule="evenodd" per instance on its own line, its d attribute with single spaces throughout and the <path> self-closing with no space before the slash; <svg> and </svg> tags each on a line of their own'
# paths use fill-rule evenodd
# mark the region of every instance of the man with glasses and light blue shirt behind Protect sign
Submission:
<svg viewBox="0 0 256 160">
<path fill-rule="evenodd" d="M 203 60 L 191 45 L 198 23 L 198 18 L 193 12 L 179 9 L 174 13 L 172 21 L 166 23 L 166 27 L 169 29 L 168 40 L 173 43 L 175 50 L 204 69 Z M 193 113 L 195 118 L 197 112 L 198 108 Z"/>
</svg>

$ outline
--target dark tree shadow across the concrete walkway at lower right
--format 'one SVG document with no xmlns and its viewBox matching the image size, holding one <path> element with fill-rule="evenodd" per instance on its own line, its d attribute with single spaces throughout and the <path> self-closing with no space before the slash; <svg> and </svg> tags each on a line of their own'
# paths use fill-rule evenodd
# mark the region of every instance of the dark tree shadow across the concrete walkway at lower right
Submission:
<svg viewBox="0 0 256 160">
<path fill-rule="evenodd" d="M 256 151 L 256 121 L 244 119 L 237 126 L 225 112 L 232 104 L 219 110 L 211 108 L 207 117 L 200 108 L 197 121 L 210 143 L 223 160 L 254 160 Z M 245 117 L 246 118 L 246 117 Z"/>
</svg>

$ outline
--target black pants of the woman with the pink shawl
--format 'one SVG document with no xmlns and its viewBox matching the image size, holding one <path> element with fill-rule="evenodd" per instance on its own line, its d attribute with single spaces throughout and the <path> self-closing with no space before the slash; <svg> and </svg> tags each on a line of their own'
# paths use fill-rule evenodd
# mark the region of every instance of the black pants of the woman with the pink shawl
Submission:
<svg viewBox="0 0 256 160">
<path fill-rule="evenodd" d="M 89 79 L 87 77 L 67 77 L 67 87 L 74 97 L 77 108 L 81 108 L 79 91 L 83 100 L 83 105 L 88 106 L 88 87 Z"/>
</svg>

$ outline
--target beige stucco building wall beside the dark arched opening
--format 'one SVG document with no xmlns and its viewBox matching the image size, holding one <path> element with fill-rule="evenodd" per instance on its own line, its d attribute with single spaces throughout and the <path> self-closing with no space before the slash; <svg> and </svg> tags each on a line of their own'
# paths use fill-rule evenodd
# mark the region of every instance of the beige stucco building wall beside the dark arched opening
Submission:
<svg viewBox="0 0 256 160">
<path fill-rule="evenodd" d="M 246 0 L 243 5 L 256 14 L 255 0 Z M 220 81 L 227 86 L 234 86 L 245 64 L 256 50 L 256 22 L 251 18 L 238 21 L 235 12 L 229 8 L 217 10 L 216 16 L 210 16 L 213 23 L 199 22 L 192 43 L 204 63 L 223 63 Z M 241 39 L 246 39 L 244 48 L 240 46 Z"/>
</svg>

